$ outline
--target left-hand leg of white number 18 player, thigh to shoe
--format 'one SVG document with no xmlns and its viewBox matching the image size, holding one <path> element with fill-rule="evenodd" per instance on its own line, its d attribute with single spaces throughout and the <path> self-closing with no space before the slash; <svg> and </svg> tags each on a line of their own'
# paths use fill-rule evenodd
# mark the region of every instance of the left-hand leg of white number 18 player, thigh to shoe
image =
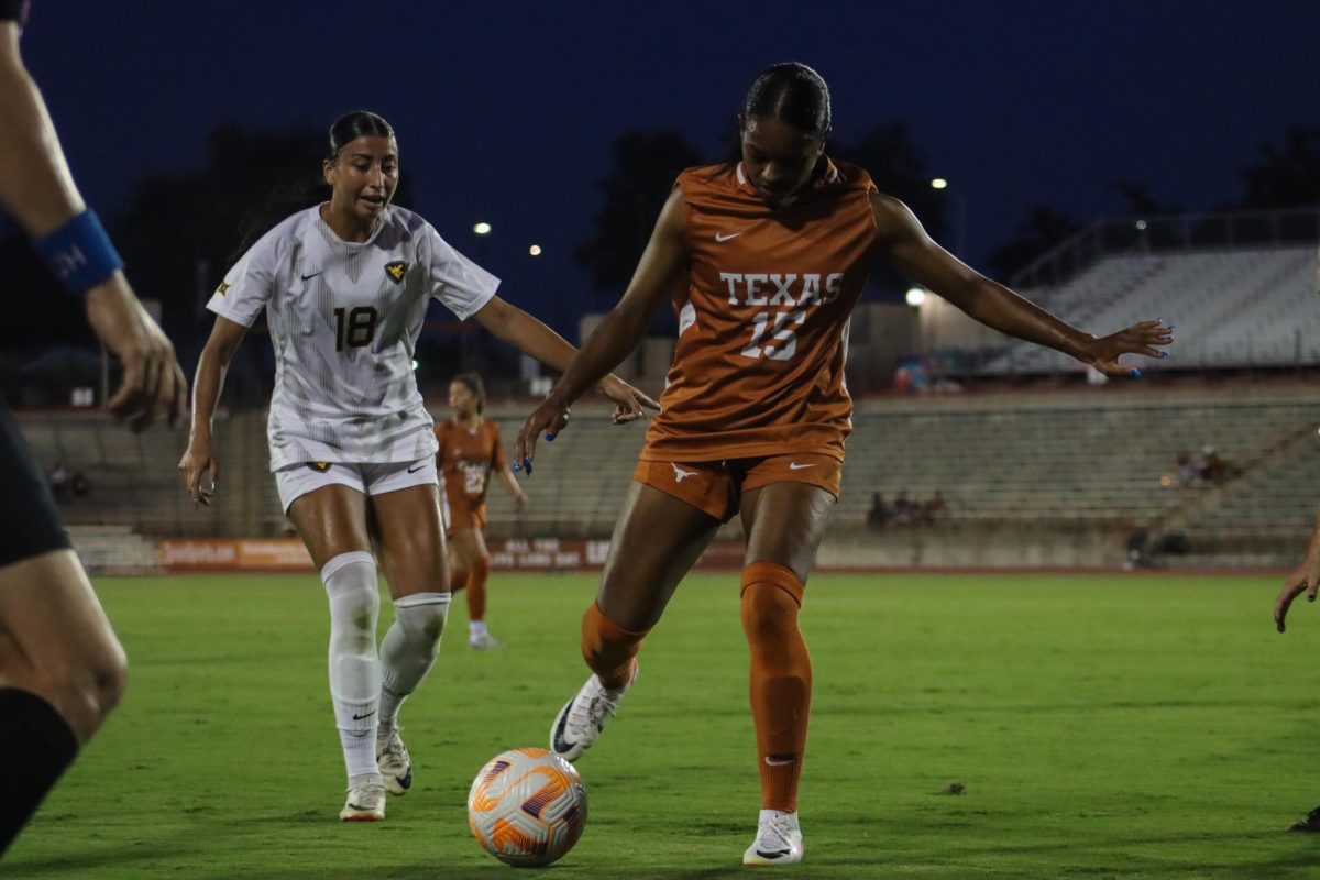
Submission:
<svg viewBox="0 0 1320 880">
<path fill-rule="evenodd" d="M 281 495 L 298 491 L 289 488 L 298 479 L 319 484 L 288 501 L 286 508 L 321 571 L 330 600 L 330 699 L 348 776 L 348 798 L 339 818 L 379 822 L 385 818 L 385 788 L 375 748 L 380 703 L 376 654 L 380 588 L 367 537 L 367 499 L 358 488 L 360 479 L 354 479 L 355 466 L 330 464 L 330 470 L 319 472 L 321 478 L 315 476 L 315 468 L 302 474 L 301 467 L 280 471 L 276 478 Z M 322 479 L 331 476 L 348 482 L 326 484 Z"/>
</svg>

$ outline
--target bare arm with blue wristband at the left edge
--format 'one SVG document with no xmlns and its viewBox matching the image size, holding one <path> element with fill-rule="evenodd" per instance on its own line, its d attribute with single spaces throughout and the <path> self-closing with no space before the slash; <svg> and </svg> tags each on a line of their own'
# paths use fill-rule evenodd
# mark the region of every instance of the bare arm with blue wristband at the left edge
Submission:
<svg viewBox="0 0 1320 880">
<path fill-rule="evenodd" d="M 12 21 L 0 22 L 0 208 L 32 236 L 65 288 L 86 294 L 91 329 L 124 367 L 106 408 L 133 430 L 162 417 L 178 425 L 187 380 L 174 347 L 133 296 L 119 255 L 78 194 Z"/>
</svg>

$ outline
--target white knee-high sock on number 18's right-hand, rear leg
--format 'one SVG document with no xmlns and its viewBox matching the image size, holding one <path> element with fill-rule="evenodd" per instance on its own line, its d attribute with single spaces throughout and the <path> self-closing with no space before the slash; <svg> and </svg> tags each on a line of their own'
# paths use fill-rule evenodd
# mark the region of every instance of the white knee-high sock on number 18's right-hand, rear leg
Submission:
<svg viewBox="0 0 1320 880">
<path fill-rule="evenodd" d="M 417 592 L 395 600 L 395 621 L 380 643 L 380 735 L 395 728 L 399 707 L 436 664 L 449 619 L 447 592 Z"/>
</svg>

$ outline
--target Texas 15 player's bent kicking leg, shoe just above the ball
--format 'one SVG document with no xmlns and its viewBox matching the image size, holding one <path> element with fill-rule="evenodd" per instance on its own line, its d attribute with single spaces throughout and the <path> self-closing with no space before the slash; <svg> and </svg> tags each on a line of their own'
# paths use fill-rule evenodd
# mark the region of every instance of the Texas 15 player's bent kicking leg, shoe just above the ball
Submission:
<svg viewBox="0 0 1320 880">
<path fill-rule="evenodd" d="M 722 474 L 714 466 L 700 476 L 725 492 Z M 721 495 L 719 501 L 722 505 L 727 497 Z M 593 676 L 550 727 L 550 749 L 556 753 L 576 761 L 599 738 L 636 679 L 642 640 L 660 620 L 719 522 L 713 512 L 689 501 L 652 486 L 632 484 L 610 541 L 599 592 L 582 619 L 582 657 Z"/>
</svg>

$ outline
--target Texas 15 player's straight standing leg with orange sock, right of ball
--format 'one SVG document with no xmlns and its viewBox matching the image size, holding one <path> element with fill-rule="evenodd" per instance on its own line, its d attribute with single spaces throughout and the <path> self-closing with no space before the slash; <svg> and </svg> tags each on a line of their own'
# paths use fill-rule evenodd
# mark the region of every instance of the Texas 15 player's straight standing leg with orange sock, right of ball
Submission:
<svg viewBox="0 0 1320 880">
<path fill-rule="evenodd" d="M 825 488 L 807 483 L 772 483 L 743 493 L 742 623 L 751 654 L 748 697 L 762 790 L 758 834 L 743 854 L 744 864 L 792 864 L 803 858 L 797 785 L 812 664 L 797 613 L 834 500 Z"/>
</svg>

